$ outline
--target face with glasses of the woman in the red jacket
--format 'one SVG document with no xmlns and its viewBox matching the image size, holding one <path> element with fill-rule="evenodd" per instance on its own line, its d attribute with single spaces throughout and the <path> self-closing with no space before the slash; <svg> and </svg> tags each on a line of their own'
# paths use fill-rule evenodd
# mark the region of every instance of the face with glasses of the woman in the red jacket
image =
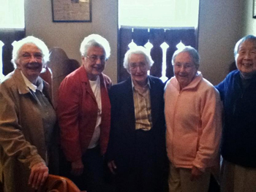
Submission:
<svg viewBox="0 0 256 192">
<path fill-rule="evenodd" d="M 105 58 L 102 47 L 89 47 L 87 55 L 82 58 L 89 80 L 97 80 L 97 76 L 105 69 L 106 61 L 101 58 Z"/>
</svg>

